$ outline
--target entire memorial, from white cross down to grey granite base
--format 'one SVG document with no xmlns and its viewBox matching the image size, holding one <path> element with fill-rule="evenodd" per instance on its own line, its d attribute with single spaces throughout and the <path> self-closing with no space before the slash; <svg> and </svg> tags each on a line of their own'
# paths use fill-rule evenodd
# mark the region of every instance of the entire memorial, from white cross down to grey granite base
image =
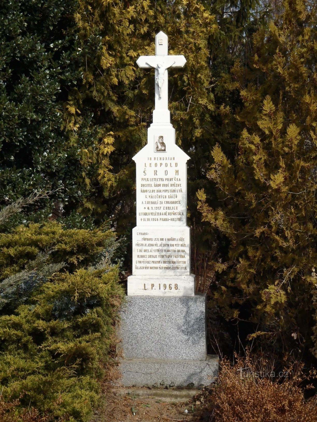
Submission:
<svg viewBox="0 0 317 422">
<path fill-rule="evenodd" d="M 137 60 L 140 68 L 155 69 L 155 109 L 148 144 L 133 157 L 137 226 L 119 333 L 125 386 L 206 385 L 218 372 L 217 357 L 206 352 L 205 295 L 195 294 L 190 273 L 190 157 L 175 144 L 168 110 L 167 69 L 185 63 L 184 56 L 168 55 L 164 32 L 156 35 L 155 56 Z"/>
</svg>

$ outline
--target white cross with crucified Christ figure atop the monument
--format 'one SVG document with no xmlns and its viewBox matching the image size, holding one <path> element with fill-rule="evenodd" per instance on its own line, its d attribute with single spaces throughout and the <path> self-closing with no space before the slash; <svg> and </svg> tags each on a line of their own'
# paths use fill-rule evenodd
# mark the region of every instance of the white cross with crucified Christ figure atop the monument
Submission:
<svg viewBox="0 0 317 422">
<path fill-rule="evenodd" d="M 155 37 L 155 56 L 140 56 L 137 60 L 139 68 L 155 69 L 155 110 L 153 123 L 169 123 L 168 110 L 168 75 L 169 68 L 183 68 L 186 63 L 184 56 L 168 55 L 168 37 L 164 32 L 158 32 Z"/>
</svg>

